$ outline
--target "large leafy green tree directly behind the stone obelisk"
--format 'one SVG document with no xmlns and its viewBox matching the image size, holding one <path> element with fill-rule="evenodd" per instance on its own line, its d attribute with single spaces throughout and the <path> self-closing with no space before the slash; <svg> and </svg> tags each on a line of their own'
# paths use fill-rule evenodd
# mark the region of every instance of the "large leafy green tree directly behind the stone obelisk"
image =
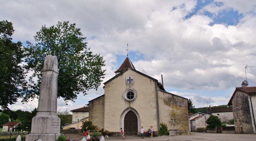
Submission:
<svg viewBox="0 0 256 141">
<path fill-rule="evenodd" d="M 47 55 L 54 55 L 58 58 L 58 97 L 66 102 L 77 98 L 79 92 L 86 95 L 86 91 L 96 89 L 104 78 L 102 66 L 105 60 L 100 54 L 93 54 L 82 37 L 80 28 L 75 28 L 69 22 L 58 22 L 51 27 L 42 26 L 34 36 L 35 45 L 27 41 L 28 46 L 24 47 L 26 69 L 33 71 L 29 79 L 29 90 L 22 102 L 29 98 L 36 98 L 40 93 L 43 63 Z M 32 80 L 37 77 L 37 82 Z"/>
</svg>

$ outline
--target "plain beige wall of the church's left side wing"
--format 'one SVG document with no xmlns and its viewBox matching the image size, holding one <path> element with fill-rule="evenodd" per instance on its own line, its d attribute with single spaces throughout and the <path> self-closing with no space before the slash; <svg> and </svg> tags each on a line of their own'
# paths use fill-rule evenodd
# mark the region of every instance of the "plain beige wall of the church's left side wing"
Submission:
<svg viewBox="0 0 256 141">
<path fill-rule="evenodd" d="M 89 120 L 99 127 L 97 130 L 104 128 L 104 98 L 101 96 L 89 102 Z"/>
</svg>

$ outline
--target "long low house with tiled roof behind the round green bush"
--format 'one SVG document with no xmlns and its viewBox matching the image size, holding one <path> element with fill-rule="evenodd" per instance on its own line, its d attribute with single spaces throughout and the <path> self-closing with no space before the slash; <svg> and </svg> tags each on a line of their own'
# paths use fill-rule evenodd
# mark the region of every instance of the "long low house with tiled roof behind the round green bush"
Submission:
<svg viewBox="0 0 256 141">
<path fill-rule="evenodd" d="M 219 117 L 221 122 L 229 123 L 230 119 L 234 119 L 232 107 L 211 107 L 207 108 L 207 113 Z"/>
</svg>

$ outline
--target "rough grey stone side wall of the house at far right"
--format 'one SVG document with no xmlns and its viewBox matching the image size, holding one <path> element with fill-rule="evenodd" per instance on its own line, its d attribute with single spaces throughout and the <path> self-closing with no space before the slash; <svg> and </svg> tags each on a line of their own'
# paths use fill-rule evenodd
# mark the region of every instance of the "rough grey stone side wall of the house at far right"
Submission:
<svg viewBox="0 0 256 141">
<path fill-rule="evenodd" d="M 237 133 L 252 134 L 251 114 L 247 94 L 236 91 L 232 100 L 235 130 Z"/>
</svg>

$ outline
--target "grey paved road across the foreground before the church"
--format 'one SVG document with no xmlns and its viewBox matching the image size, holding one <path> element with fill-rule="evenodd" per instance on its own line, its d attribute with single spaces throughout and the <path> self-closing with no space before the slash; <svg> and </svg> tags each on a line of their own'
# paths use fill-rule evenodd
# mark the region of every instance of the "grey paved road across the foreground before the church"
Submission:
<svg viewBox="0 0 256 141">
<path fill-rule="evenodd" d="M 122 140 L 121 137 L 105 138 L 105 141 Z M 190 133 L 190 135 L 160 136 L 160 137 L 126 137 L 126 141 L 256 141 L 255 134 L 214 134 L 214 133 Z M 123 140 L 123 141 L 124 141 Z"/>
</svg>

